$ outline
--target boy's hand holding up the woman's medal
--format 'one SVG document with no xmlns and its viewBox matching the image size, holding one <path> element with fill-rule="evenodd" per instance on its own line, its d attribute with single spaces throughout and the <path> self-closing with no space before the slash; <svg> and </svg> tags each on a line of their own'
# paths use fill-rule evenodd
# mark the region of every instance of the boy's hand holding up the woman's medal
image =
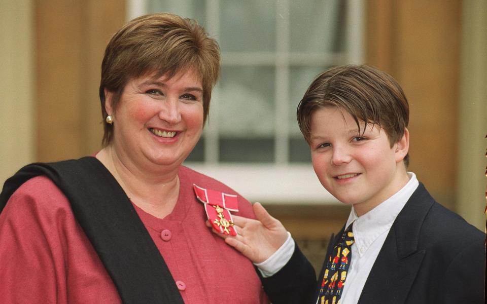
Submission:
<svg viewBox="0 0 487 304">
<path fill-rule="evenodd" d="M 270 216 L 260 203 L 255 203 L 253 208 L 256 219 L 232 215 L 236 236 L 212 230 L 252 262 L 261 263 L 284 244 L 288 233 L 283 224 Z M 206 225 L 211 227 L 208 221 Z"/>
</svg>

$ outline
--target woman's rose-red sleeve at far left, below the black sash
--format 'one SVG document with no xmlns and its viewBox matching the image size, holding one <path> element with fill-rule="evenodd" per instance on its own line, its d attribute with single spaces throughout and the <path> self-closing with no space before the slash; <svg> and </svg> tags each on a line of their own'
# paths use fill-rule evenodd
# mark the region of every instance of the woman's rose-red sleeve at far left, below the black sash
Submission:
<svg viewBox="0 0 487 304">
<path fill-rule="evenodd" d="M 38 202 L 14 194 L 0 215 L 0 294 L 5 303 L 63 302 L 56 290 L 55 252 Z M 65 301 L 64 301 L 65 302 Z"/>
</svg>

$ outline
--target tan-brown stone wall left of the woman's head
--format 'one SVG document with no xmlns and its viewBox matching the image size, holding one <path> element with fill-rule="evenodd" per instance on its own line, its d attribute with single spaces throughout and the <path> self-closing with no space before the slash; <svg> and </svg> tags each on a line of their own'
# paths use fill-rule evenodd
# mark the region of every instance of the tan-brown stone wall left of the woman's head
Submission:
<svg viewBox="0 0 487 304">
<path fill-rule="evenodd" d="M 36 2 L 39 161 L 79 158 L 100 149 L 100 65 L 111 36 L 125 22 L 124 3 Z"/>
</svg>

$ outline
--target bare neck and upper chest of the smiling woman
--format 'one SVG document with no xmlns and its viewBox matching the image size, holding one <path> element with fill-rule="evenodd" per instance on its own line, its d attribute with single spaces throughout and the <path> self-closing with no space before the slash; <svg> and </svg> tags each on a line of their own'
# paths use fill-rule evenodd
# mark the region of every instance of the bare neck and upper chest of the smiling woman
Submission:
<svg viewBox="0 0 487 304">
<path fill-rule="evenodd" d="M 103 148 L 96 158 L 112 173 L 130 201 L 145 212 L 164 218 L 176 206 L 180 187 L 178 168 L 154 165 L 155 170 L 144 170 L 112 146 Z"/>
</svg>

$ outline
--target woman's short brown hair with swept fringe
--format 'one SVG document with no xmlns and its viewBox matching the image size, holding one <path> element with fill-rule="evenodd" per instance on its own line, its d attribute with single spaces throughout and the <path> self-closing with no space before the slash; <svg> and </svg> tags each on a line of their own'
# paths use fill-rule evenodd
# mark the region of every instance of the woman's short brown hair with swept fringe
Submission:
<svg viewBox="0 0 487 304">
<path fill-rule="evenodd" d="M 105 89 L 114 92 L 116 109 L 130 79 L 149 73 L 169 78 L 193 69 L 203 86 L 203 123 L 208 116 L 212 89 L 220 74 L 220 49 L 195 20 L 159 13 L 137 17 L 110 40 L 101 64 L 100 101 L 103 120 Z M 113 125 L 103 124 L 103 145 L 113 137 Z"/>
</svg>

